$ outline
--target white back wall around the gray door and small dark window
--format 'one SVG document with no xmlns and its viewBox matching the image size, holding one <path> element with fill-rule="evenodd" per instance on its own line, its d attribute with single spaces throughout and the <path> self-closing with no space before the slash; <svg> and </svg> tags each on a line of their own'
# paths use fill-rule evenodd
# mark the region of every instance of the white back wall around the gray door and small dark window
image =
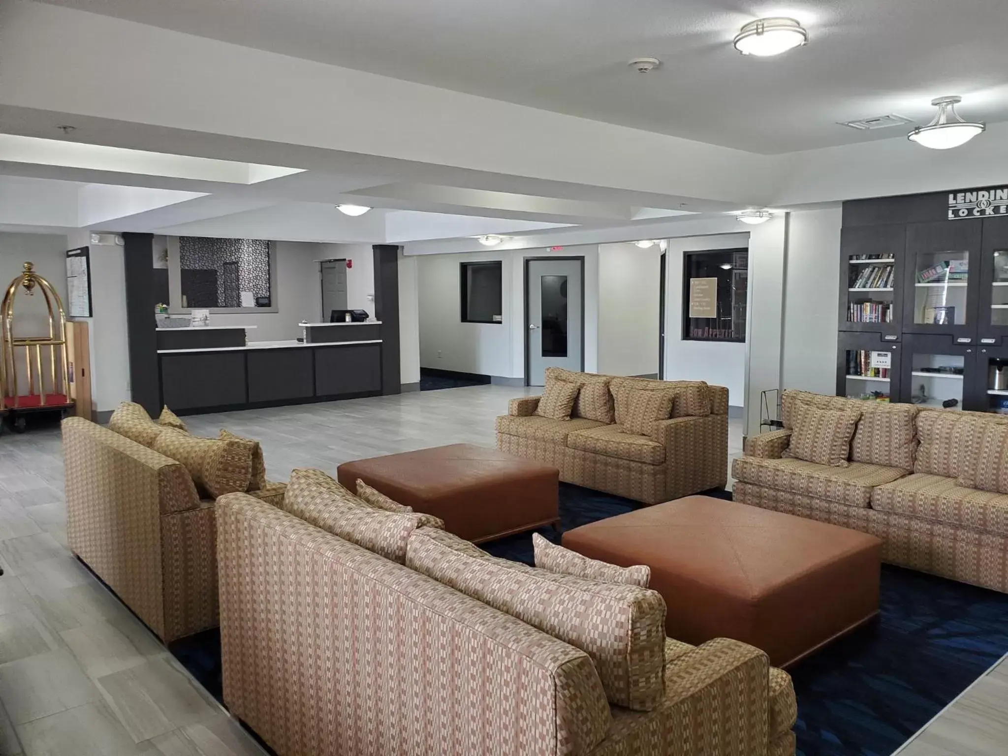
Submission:
<svg viewBox="0 0 1008 756">
<path fill-rule="evenodd" d="M 526 257 L 585 258 L 585 369 L 599 366 L 599 247 L 416 256 L 420 365 L 500 378 L 525 377 Z M 459 266 L 500 260 L 502 323 L 462 323 Z M 439 354 L 438 354 L 439 353 Z"/>
</svg>

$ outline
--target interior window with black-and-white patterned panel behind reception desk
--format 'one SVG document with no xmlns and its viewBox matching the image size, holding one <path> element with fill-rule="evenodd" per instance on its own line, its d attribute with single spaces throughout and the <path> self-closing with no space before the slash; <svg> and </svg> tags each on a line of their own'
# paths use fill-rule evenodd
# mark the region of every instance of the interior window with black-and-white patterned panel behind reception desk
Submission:
<svg viewBox="0 0 1008 756">
<path fill-rule="evenodd" d="M 178 256 L 190 307 L 240 307 L 242 291 L 271 296 L 268 241 L 181 236 Z"/>
</svg>

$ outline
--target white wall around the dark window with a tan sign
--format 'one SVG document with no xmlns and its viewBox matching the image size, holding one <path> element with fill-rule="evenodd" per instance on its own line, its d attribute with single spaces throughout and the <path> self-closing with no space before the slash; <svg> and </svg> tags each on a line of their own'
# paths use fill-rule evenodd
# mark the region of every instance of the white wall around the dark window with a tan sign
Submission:
<svg viewBox="0 0 1008 756">
<path fill-rule="evenodd" d="M 728 387 L 728 401 L 745 402 L 746 345 L 682 339 L 682 255 L 714 249 L 745 249 L 749 234 L 721 234 L 668 240 L 665 291 L 665 380 L 707 381 Z M 752 296 L 753 258 L 749 258 L 749 293 Z"/>
</svg>

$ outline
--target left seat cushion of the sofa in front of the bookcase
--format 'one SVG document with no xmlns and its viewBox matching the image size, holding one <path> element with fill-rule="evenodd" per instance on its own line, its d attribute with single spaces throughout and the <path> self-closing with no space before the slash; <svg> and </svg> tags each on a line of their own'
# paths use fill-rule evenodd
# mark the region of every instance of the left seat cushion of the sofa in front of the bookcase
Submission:
<svg viewBox="0 0 1008 756">
<path fill-rule="evenodd" d="M 852 507 L 867 507 L 876 486 L 891 483 L 906 471 L 852 462 L 846 468 L 817 465 L 804 460 L 764 460 L 742 457 L 732 462 L 732 477 L 736 481 L 756 486 L 790 491 L 836 501 Z"/>
</svg>

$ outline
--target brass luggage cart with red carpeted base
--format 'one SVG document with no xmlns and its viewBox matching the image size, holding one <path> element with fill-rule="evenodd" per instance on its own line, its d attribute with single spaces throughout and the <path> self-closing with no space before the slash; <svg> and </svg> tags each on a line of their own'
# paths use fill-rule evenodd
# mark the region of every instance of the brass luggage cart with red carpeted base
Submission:
<svg viewBox="0 0 1008 756">
<path fill-rule="evenodd" d="M 48 310 L 48 336 L 15 336 L 14 304 L 24 291 L 34 296 L 41 291 Z M 73 408 L 67 360 L 67 317 L 59 294 L 52 285 L 24 263 L 21 274 L 7 287 L 0 304 L 0 397 L 11 425 L 23 432 L 26 415 L 60 412 Z M 26 393 L 22 393 L 26 389 Z"/>
</svg>

